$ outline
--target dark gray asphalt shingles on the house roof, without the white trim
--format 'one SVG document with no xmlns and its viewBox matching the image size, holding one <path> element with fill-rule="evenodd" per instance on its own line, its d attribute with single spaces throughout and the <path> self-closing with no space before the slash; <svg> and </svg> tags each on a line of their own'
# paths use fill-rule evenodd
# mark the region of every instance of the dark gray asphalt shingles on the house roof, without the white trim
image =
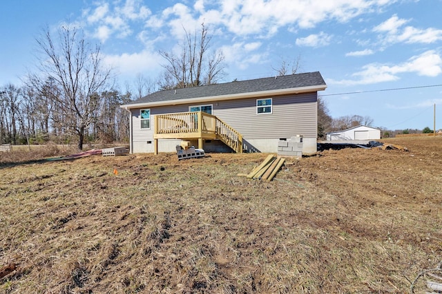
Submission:
<svg viewBox="0 0 442 294">
<path fill-rule="evenodd" d="M 133 103 L 128 105 L 320 85 L 325 85 L 325 81 L 319 72 L 306 72 L 302 74 L 291 74 L 288 76 L 273 76 L 271 78 L 257 78 L 247 81 L 233 81 L 231 83 L 187 87 L 177 89 L 176 92 L 175 90 L 158 91 L 144 96 L 137 101 L 133 101 Z"/>
</svg>

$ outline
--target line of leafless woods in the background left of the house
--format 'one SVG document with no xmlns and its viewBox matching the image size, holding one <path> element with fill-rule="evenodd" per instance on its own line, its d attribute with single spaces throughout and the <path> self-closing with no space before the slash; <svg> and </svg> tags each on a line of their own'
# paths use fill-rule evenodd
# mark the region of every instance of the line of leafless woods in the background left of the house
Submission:
<svg viewBox="0 0 442 294">
<path fill-rule="evenodd" d="M 83 134 L 82 143 L 128 141 L 129 118 L 119 105 L 132 101 L 131 93 L 122 94 L 117 90 L 95 93 L 92 99 L 98 105 L 90 113 L 90 120 L 81 123 L 80 117 L 50 98 L 59 91 L 51 81 L 46 81 L 41 90 L 28 85 L 1 87 L 0 143 L 34 145 L 52 142 L 78 146 L 79 132 Z"/>
</svg>

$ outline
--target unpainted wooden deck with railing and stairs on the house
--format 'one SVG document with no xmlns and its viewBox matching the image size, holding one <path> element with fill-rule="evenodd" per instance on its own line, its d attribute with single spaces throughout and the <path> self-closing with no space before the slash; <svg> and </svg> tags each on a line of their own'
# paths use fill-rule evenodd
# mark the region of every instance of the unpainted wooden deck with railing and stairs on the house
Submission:
<svg viewBox="0 0 442 294">
<path fill-rule="evenodd" d="M 155 154 L 158 154 L 158 139 L 198 140 L 202 149 L 203 140 L 220 139 L 233 151 L 242 153 L 242 135 L 222 120 L 205 112 L 180 112 L 154 116 L 153 134 Z"/>
</svg>

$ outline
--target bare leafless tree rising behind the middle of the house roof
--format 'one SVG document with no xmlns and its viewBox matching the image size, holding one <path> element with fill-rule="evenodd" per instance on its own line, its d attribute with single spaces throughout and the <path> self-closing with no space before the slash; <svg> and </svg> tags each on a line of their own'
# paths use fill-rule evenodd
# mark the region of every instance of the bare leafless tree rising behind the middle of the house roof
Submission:
<svg viewBox="0 0 442 294">
<path fill-rule="evenodd" d="M 184 32 L 186 38 L 180 55 L 160 50 L 166 61 L 159 81 L 162 90 L 210 85 L 218 83 L 225 75 L 224 54 L 221 51 L 209 52 L 212 38 L 204 23 L 199 35 L 185 29 Z"/>
</svg>

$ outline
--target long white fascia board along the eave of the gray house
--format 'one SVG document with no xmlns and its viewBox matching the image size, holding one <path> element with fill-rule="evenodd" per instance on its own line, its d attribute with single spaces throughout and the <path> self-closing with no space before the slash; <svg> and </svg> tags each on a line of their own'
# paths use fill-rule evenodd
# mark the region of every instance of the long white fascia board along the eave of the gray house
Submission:
<svg viewBox="0 0 442 294">
<path fill-rule="evenodd" d="M 220 95 L 220 96 L 206 96 L 198 98 L 126 104 L 126 105 L 120 105 L 120 107 L 124 109 L 134 109 L 142 107 L 157 107 L 157 106 L 179 105 L 179 104 L 188 104 L 188 103 L 205 103 L 205 102 L 232 100 L 232 99 L 259 98 L 259 97 L 279 96 L 286 94 L 300 94 L 300 93 L 308 93 L 315 91 L 323 91 L 325 90 L 325 88 L 327 88 L 327 85 L 315 85 L 309 87 L 278 89 L 278 90 L 269 90 L 261 92 L 248 92 L 248 93 L 229 94 L 229 95 Z"/>
</svg>

